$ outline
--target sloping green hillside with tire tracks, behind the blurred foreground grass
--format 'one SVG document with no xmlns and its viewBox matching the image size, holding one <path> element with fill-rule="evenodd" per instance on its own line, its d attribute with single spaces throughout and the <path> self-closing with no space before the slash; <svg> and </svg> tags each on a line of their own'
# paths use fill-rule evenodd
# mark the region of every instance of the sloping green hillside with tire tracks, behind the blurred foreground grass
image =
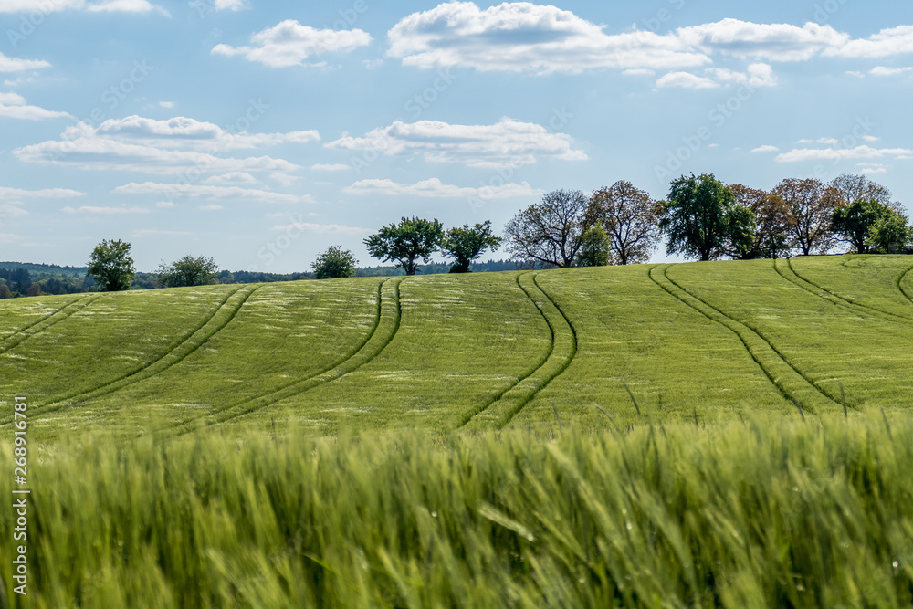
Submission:
<svg viewBox="0 0 913 609">
<path fill-rule="evenodd" d="M 0 394 L 26 394 L 49 435 L 482 430 L 556 412 L 602 427 L 635 420 L 632 396 L 670 422 L 840 412 L 842 395 L 906 408 L 911 267 L 807 257 L 9 300 Z"/>
</svg>

